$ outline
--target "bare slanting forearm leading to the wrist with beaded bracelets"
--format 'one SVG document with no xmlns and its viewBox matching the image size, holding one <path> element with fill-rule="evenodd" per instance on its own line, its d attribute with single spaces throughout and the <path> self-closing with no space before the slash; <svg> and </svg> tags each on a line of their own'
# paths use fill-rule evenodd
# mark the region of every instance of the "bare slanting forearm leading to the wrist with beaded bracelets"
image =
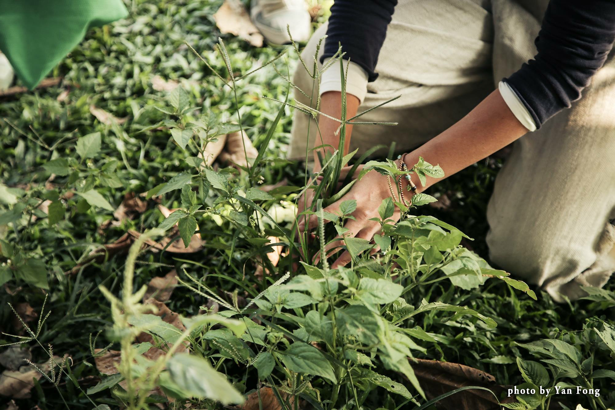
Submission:
<svg viewBox="0 0 615 410">
<path fill-rule="evenodd" d="M 405 163 L 410 168 L 422 156 L 428 163 L 439 164 L 448 177 L 506 147 L 526 132 L 495 90 L 442 134 L 408 153 Z M 412 180 L 420 192 L 440 179 L 427 177 L 425 187 L 419 184 L 416 175 L 412 175 Z"/>
</svg>

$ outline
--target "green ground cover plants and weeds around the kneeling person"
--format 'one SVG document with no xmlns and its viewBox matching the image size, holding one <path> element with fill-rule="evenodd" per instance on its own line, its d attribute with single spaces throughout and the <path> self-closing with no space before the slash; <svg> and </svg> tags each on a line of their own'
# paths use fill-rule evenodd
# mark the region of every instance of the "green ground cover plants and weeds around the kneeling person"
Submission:
<svg viewBox="0 0 615 410">
<path fill-rule="evenodd" d="M 345 239 L 351 264 L 330 267 L 323 249 L 356 207 L 323 211 L 351 187 L 341 167 L 400 177 L 394 149 L 335 150 L 309 185 L 285 147 L 292 110 L 317 113 L 296 107 L 288 79 L 295 64 L 314 82 L 322 71 L 294 46 L 219 39 L 220 4 L 129 2 L 130 18 L 55 69 L 58 86 L 0 100 L 7 406 L 613 406 L 613 291 L 558 305 L 483 259 L 496 159 L 415 198 L 397 224 L 386 199 L 381 235 Z M 347 121 L 360 116 L 340 119 L 341 139 Z M 253 147 L 213 161 L 242 131 Z M 307 189 L 314 237 L 296 235 Z"/>
</svg>

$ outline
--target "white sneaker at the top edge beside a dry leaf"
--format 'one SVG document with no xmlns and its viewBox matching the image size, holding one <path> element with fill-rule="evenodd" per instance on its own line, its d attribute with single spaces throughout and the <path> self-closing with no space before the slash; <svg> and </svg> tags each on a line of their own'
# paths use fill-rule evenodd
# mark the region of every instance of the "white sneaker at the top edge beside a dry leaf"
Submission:
<svg viewBox="0 0 615 410">
<path fill-rule="evenodd" d="M 312 31 L 305 0 L 252 0 L 250 18 L 264 38 L 274 44 L 290 42 L 287 25 L 297 42 L 308 41 Z"/>
</svg>

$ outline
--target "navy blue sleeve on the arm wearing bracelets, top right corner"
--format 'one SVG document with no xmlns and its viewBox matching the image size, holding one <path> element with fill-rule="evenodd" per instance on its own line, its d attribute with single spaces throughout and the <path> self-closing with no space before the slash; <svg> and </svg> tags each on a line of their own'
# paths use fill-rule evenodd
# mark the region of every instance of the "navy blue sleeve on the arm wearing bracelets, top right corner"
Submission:
<svg viewBox="0 0 615 410">
<path fill-rule="evenodd" d="M 536 38 L 538 54 L 504 81 L 540 127 L 581 98 L 613 41 L 615 1 L 551 0 Z"/>
</svg>

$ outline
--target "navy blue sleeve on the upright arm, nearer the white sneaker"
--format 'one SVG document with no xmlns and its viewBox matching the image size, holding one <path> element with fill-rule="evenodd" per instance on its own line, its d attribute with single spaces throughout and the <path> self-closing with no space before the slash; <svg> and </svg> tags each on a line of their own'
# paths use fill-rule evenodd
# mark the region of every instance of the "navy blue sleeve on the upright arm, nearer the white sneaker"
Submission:
<svg viewBox="0 0 615 410">
<path fill-rule="evenodd" d="M 344 59 L 360 65 L 368 81 L 374 81 L 378 54 L 396 5 L 397 0 L 335 0 L 320 62 L 333 57 L 341 44 Z"/>
</svg>

